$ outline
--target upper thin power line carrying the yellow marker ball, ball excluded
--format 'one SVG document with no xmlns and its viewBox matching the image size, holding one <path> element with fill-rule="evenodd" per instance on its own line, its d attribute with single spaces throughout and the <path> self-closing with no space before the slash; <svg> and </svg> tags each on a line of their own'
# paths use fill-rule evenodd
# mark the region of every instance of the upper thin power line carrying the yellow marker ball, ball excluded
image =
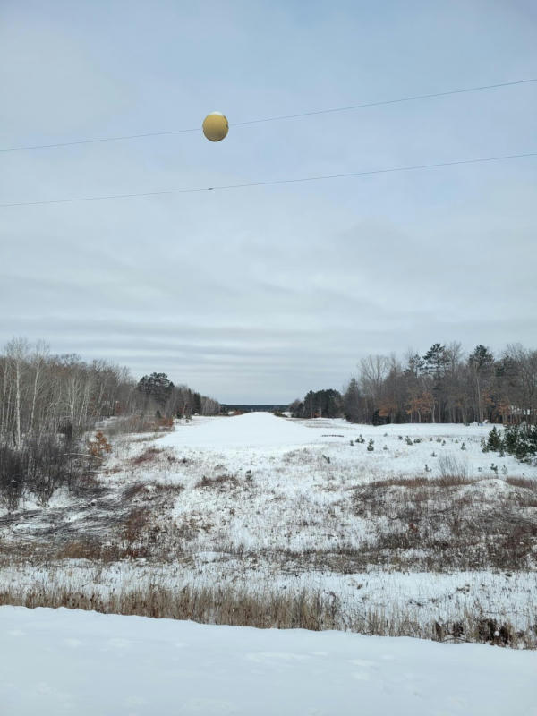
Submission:
<svg viewBox="0 0 537 716">
<path fill-rule="evenodd" d="M 261 124 L 264 122 L 280 122 L 287 119 L 299 119 L 300 117 L 310 117 L 314 115 L 329 115 L 336 112 L 349 112 L 354 109 L 364 109 L 366 107 L 382 107 L 383 105 L 396 105 L 402 102 L 413 102 L 418 99 L 431 99 L 437 97 L 447 97 L 449 95 L 465 94 L 467 92 L 479 92 L 482 90 L 496 90 L 500 87 L 512 87 L 519 84 L 528 84 L 529 82 L 536 82 L 537 78 L 529 80 L 516 80 L 512 82 L 496 82 L 495 84 L 484 84 L 478 87 L 465 87 L 459 90 L 448 90 L 446 92 L 432 92 L 430 94 L 423 95 L 412 95 L 410 97 L 401 97 L 396 99 L 383 99 L 379 102 L 365 102 L 359 105 L 349 105 L 347 107 L 332 107 L 330 109 L 317 109 L 311 112 L 301 112 L 296 115 L 277 115 L 273 117 L 264 117 L 261 119 L 251 119 L 246 122 L 234 122 L 230 123 L 232 127 L 241 127 L 246 124 Z M 140 134 L 124 134 L 115 137 L 98 137 L 96 139 L 85 139 L 75 141 L 60 141 L 54 144 L 32 144 L 24 147 L 8 147 L 6 149 L 0 149 L 0 153 L 7 153 L 13 151 L 29 151 L 30 149 L 58 149 L 60 147 L 72 147 L 77 144 L 97 144 L 98 142 L 105 141 L 124 141 L 124 140 L 138 140 L 146 137 L 164 137 L 172 134 L 186 134 L 188 132 L 200 132 L 200 127 L 192 127 L 190 129 L 175 129 L 168 130 L 166 132 L 142 132 Z"/>
</svg>

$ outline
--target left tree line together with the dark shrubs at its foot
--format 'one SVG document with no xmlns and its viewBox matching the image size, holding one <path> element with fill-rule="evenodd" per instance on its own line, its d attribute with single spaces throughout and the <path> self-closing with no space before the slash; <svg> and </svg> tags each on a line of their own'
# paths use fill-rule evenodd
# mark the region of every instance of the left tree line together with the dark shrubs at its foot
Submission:
<svg viewBox="0 0 537 716">
<path fill-rule="evenodd" d="M 89 433 L 107 418 L 118 418 L 113 424 L 124 431 L 152 430 L 158 419 L 219 409 L 164 373 L 137 382 L 113 363 L 55 355 L 44 342 L 13 338 L 0 353 L 0 500 L 15 507 L 25 491 L 46 501 L 57 487 L 72 488 L 98 458 Z"/>
</svg>

